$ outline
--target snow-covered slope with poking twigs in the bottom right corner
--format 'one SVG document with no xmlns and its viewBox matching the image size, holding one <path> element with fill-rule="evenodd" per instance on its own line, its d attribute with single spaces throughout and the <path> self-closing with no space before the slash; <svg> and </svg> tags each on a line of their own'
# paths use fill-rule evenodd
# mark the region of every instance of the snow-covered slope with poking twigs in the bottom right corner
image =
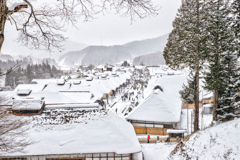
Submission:
<svg viewBox="0 0 240 160">
<path fill-rule="evenodd" d="M 240 119 L 218 124 L 193 134 L 182 150 L 169 159 L 240 159 Z"/>
</svg>

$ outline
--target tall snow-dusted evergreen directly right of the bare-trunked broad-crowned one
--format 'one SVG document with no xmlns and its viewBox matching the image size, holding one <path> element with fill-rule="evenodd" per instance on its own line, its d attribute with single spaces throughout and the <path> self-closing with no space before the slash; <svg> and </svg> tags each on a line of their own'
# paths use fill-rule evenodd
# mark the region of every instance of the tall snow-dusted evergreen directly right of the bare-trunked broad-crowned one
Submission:
<svg viewBox="0 0 240 160">
<path fill-rule="evenodd" d="M 213 91 L 213 120 L 217 120 L 216 109 L 218 108 L 219 94 L 224 92 L 225 64 L 226 55 L 231 55 L 234 51 L 234 32 L 231 28 L 232 16 L 229 0 L 208 0 L 206 2 L 208 13 L 207 19 L 207 51 L 209 72 L 206 73 L 206 89 Z"/>
</svg>

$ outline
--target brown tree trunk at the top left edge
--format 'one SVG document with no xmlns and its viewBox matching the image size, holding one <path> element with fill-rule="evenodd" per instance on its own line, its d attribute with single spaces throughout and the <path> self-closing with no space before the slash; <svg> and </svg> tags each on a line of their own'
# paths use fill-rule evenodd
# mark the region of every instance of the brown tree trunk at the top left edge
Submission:
<svg viewBox="0 0 240 160">
<path fill-rule="evenodd" d="M 7 11 L 6 0 L 0 0 L 0 52 L 4 42 L 4 28 L 7 20 Z"/>
</svg>

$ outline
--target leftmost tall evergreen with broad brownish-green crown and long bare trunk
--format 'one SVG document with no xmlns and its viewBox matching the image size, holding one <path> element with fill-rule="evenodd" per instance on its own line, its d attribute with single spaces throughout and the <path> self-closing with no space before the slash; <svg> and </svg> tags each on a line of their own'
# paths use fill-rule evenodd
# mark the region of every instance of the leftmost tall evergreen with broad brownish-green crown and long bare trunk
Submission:
<svg viewBox="0 0 240 160">
<path fill-rule="evenodd" d="M 164 48 L 166 64 L 172 69 L 194 68 L 194 131 L 199 130 L 199 72 L 205 54 L 205 13 L 203 0 L 183 0 Z"/>
</svg>

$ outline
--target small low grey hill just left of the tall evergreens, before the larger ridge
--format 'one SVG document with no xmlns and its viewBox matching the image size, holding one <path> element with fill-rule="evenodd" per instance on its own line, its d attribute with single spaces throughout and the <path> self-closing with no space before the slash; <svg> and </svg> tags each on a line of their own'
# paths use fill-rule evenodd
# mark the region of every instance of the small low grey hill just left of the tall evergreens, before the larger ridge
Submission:
<svg viewBox="0 0 240 160">
<path fill-rule="evenodd" d="M 162 52 L 151 53 L 143 56 L 138 56 L 133 59 L 133 65 L 139 65 L 143 63 L 144 65 L 163 65 L 165 60 Z"/>
</svg>

